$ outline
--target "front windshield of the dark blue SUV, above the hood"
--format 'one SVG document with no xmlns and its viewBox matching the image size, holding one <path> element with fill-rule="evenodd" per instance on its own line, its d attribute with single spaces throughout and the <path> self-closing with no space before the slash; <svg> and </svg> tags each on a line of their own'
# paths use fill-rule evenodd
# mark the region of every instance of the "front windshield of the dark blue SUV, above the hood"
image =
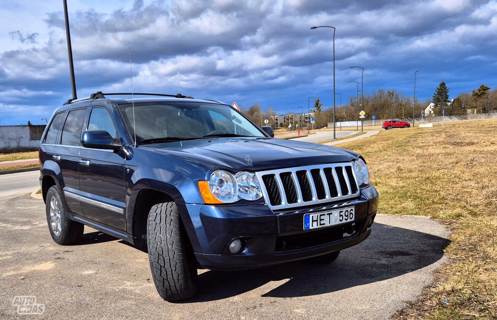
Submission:
<svg viewBox="0 0 497 320">
<path fill-rule="evenodd" d="M 118 105 L 131 135 L 150 142 L 222 136 L 263 137 L 264 134 L 227 105 L 201 102 L 135 103 Z"/>
</svg>

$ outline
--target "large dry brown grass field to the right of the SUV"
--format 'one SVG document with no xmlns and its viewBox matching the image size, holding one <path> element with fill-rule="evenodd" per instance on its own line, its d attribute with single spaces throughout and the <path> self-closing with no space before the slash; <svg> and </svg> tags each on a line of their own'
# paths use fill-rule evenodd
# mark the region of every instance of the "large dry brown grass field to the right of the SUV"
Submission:
<svg viewBox="0 0 497 320">
<path fill-rule="evenodd" d="M 448 264 L 394 318 L 497 319 L 496 133 L 497 119 L 472 120 L 339 145 L 368 162 L 381 213 L 428 215 L 452 229 Z"/>
</svg>

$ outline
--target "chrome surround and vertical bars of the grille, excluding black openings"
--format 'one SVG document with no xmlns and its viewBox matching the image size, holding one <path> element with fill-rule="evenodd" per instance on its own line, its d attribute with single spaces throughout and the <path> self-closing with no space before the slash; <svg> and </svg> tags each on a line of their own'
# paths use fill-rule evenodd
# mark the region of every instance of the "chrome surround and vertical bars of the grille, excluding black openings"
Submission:
<svg viewBox="0 0 497 320">
<path fill-rule="evenodd" d="M 307 206 L 307 205 L 315 205 L 315 204 L 321 204 L 321 203 L 326 203 L 326 202 L 331 202 L 331 201 L 337 201 L 337 200 L 342 200 L 342 199 L 348 199 L 352 197 L 356 197 L 359 195 L 360 190 L 357 190 L 357 192 L 352 193 L 352 188 L 350 186 L 349 182 L 349 176 L 346 173 L 345 167 L 346 166 L 351 166 L 352 168 L 352 174 L 353 178 L 355 179 L 355 184 L 357 184 L 357 176 L 354 170 L 354 166 L 350 162 L 345 162 L 345 163 L 331 163 L 331 164 L 321 164 L 321 165 L 310 165 L 310 166 L 302 166 L 302 167 L 293 167 L 293 168 L 285 168 L 285 169 L 274 169 L 274 170 L 265 170 L 265 171 L 258 171 L 256 172 L 257 179 L 259 181 L 262 181 L 262 176 L 266 175 L 274 175 L 275 181 L 276 181 L 276 188 L 278 191 L 271 191 L 271 194 L 279 193 L 281 197 L 281 204 L 275 204 L 271 205 L 269 199 L 269 192 L 266 189 L 266 184 L 262 183 L 260 184 L 262 193 L 264 195 L 264 199 L 266 201 L 266 204 L 272 209 L 272 210 L 280 210 L 280 209 L 286 209 L 286 208 L 297 208 L 300 206 Z M 343 195 L 342 194 L 342 188 L 340 186 L 340 182 L 338 179 L 338 175 L 336 170 L 338 169 L 337 167 L 340 167 L 339 169 L 341 170 L 344 183 L 345 183 L 345 188 L 348 190 L 348 194 Z M 332 182 L 329 182 L 327 179 L 327 175 L 325 174 L 325 168 L 330 168 L 331 169 L 331 176 L 333 178 Z M 326 196 L 324 199 L 318 199 L 318 194 L 316 190 L 316 184 L 314 182 L 314 178 L 311 174 L 311 169 L 319 169 L 319 174 L 321 176 L 322 183 L 325 187 L 325 193 Z M 328 169 L 327 169 L 328 170 Z M 310 201 L 304 201 L 303 200 L 303 194 L 302 190 L 300 187 L 300 182 L 299 179 L 297 178 L 297 171 L 306 171 L 307 180 L 310 185 L 311 193 L 312 193 L 312 199 Z M 295 187 L 295 191 L 297 193 L 297 202 L 295 203 L 288 203 L 286 193 L 285 193 L 285 188 L 283 186 L 283 180 L 280 177 L 281 173 L 290 173 L 291 178 L 293 180 L 293 184 Z M 330 172 L 329 172 L 330 173 Z M 303 174 L 302 174 L 303 175 Z M 337 196 L 331 197 L 331 190 L 329 183 L 333 183 L 336 191 L 337 191 Z M 271 185 L 272 186 L 272 185 Z M 332 185 L 331 185 L 332 187 Z M 358 188 L 357 188 L 358 189 Z M 322 192 L 322 191 L 321 191 Z M 334 192 L 334 191 L 333 191 Z M 321 195 L 322 196 L 322 195 Z"/>
</svg>

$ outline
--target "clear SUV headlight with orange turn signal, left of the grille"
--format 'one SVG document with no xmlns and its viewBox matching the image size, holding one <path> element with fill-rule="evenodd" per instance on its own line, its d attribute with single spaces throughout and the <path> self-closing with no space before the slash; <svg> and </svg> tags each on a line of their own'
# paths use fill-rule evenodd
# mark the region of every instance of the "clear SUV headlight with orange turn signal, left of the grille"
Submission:
<svg viewBox="0 0 497 320">
<path fill-rule="evenodd" d="M 230 203 L 262 197 L 257 177 L 248 171 L 233 175 L 225 170 L 216 170 L 209 181 L 199 181 L 198 188 L 205 203 Z"/>
</svg>

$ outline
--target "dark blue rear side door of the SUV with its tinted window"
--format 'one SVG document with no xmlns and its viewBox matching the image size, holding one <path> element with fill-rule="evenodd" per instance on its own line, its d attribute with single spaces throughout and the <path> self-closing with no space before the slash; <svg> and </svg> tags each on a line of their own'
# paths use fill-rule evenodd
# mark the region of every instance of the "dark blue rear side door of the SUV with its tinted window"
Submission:
<svg viewBox="0 0 497 320">
<path fill-rule="evenodd" d="M 62 174 L 61 188 L 66 195 L 69 211 L 82 214 L 80 200 L 80 160 L 81 130 L 83 128 L 86 107 L 70 110 L 62 127 L 60 143 L 54 147 L 53 159 L 59 163 Z"/>
</svg>

